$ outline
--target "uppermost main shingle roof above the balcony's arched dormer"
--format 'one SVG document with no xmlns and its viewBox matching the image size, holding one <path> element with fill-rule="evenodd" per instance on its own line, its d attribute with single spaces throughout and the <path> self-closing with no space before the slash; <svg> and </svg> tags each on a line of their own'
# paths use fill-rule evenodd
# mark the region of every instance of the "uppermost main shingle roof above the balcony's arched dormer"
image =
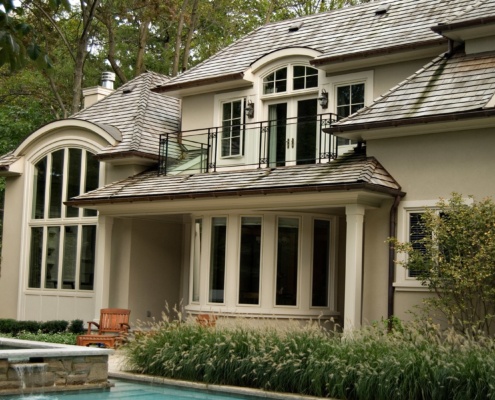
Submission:
<svg viewBox="0 0 495 400">
<path fill-rule="evenodd" d="M 491 8 L 493 0 L 489 0 Z M 383 15 L 381 6 L 369 2 L 330 12 L 264 25 L 210 59 L 157 88 L 166 92 L 221 80 L 241 79 L 257 60 L 276 50 L 307 47 L 319 51 L 315 65 L 355 56 L 393 52 L 444 42 L 430 28 L 445 20 L 445 15 L 461 13 L 473 0 L 390 0 Z M 301 27 L 289 32 L 295 23 Z"/>
</svg>

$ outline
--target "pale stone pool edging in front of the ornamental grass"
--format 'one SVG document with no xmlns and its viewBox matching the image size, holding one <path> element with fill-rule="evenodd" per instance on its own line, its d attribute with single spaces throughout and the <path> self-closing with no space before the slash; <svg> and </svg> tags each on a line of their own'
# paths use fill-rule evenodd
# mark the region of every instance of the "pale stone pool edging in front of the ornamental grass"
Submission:
<svg viewBox="0 0 495 400">
<path fill-rule="evenodd" d="M 110 379 L 124 379 L 128 381 L 135 382 L 146 382 L 150 384 L 158 384 L 158 385 L 167 385 L 167 386 L 175 386 L 180 388 L 187 389 L 197 389 L 204 391 L 212 391 L 216 393 L 222 394 L 235 394 L 235 395 L 244 395 L 244 396 L 256 396 L 256 397 L 264 397 L 267 399 L 291 399 L 291 400 L 315 400 L 315 399 L 327 399 L 332 400 L 329 397 L 314 397 L 314 396 L 304 396 L 299 394 L 292 393 L 276 393 L 276 392 L 267 392 L 262 389 L 253 389 L 246 388 L 240 386 L 227 386 L 227 385 L 211 385 L 207 383 L 199 383 L 199 382 L 190 382 L 190 381 L 181 381 L 177 379 L 163 378 L 160 376 L 153 375 L 144 375 L 138 374 L 129 371 L 108 371 L 108 377 Z M 337 399 L 333 399 L 337 400 Z"/>
</svg>

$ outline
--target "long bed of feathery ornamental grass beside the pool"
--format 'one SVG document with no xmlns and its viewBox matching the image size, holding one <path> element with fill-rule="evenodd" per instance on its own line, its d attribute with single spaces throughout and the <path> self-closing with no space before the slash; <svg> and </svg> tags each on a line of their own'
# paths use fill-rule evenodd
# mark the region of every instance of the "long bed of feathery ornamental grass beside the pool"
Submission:
<svg viewBox="0 0 495 400">
<path fill-rule="evenodd" d="M 140 373 L 208 384 L 341 399 L 495 399 L 491 339 L 426 323 L 347 335 L 283 325 L 206 328 L 164 319 L 136 332 L 124 351 Z"/>
</svg>

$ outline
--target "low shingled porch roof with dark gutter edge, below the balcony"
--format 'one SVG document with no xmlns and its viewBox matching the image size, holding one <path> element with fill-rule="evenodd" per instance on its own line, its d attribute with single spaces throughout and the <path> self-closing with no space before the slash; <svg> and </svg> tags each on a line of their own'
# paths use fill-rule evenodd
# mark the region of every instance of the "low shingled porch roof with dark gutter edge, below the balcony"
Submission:
<svg viewBox="0 0 495 400">
<path fill-rule="evenodd" d="M 67 204 L 172 200 L 283 192 L 368 189 L 401 194 L 399 184 L 373 157 L 348 153 L 325 164 L 239 170 L 195 175 L 131 176 L 71 199 Z"/>
</svg>

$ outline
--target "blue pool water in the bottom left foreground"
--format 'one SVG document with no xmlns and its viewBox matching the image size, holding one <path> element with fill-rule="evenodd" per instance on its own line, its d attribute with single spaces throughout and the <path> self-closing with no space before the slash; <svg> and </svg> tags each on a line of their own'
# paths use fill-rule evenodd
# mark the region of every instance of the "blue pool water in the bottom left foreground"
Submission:
<svg viewBox="0 0 495 400">
<path fill-rule="evenodd" d="M 43 395 L 0 396 L 0 400 L 257 400 L 259 397 L 215 394 L 211 392 L 163 385 L 150 385 L 121 380 L 111 380 L 115 387 L 110 390 L 85 390 L 80 392 L 47 393 Z"/>
</svg>

